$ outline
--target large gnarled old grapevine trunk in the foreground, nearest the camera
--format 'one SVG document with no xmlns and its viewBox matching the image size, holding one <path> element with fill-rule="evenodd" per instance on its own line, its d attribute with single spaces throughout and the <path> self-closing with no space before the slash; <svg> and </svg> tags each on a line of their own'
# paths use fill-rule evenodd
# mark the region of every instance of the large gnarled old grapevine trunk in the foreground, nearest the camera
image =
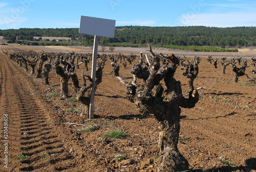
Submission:
<svg viewBox="0 0 256 172">
<path fill-rule="evenodd" d="M 151 49 L 151 48 L 150 48 Z M 151 50 L 152 53 L 152 50 Z M 182 95 L 181 83 L 174 79 L 179 59 L 173 54 L 167 57 L 170 65 L 160 65 L 160 56 L 152 53 L 152 60 L 147 65 L 142 56 L 132 69 L 134 77 L 142 79 L 141 84 L 128 83 L 117 77 L 126 85 L 126 95 L 142 113 L 152 113 L 162 124 L 158 138 L 158 157 L 154 168 L 157 171 L 177 171 L 188 169 L 187 160 L 180 154 L 177 144 L 180 132 L 180 113 L 182 108 L 192 108 L 199 99 L 198 89 L 190 91 L 186 99 Z M 160 84 L 163 80 L 166 86 Z M 136 80 L 134 80 L 136 81 Z M 154 91 L 153 91 L 153 88 Z"/>
</svg>

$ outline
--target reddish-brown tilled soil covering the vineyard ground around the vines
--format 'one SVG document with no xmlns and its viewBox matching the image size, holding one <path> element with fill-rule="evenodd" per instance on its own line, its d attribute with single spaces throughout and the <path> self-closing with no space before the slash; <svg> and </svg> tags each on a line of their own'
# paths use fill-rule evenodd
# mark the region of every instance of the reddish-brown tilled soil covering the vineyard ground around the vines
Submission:
<svg viewBox="0 0 256 172">
<path fill-rule="evenodd" d="M 8 52 L 16 47 L 1 48 Z M 120 77 L 132 80 L 130 69 L 134 64 L 121 67 Z M 251 69 L 246 70 L 253 77 Z M 62 99 L 58 96 L 60 78 L 54 71 L 50 72 L 50 84 L 44 85 L 42 79 L 36 79 L 0 52 L 0 171 L 152 171 L 150 158 L 157 155 L 158 121 L 152 114 L 141 115 L 125 99 L 125 86 L 111 70 L 106 61 L 102 83 L 95 94 L 95 119 L 87 120 L 76 112 L 80 104 L 69 102 L 75 95 L 71 83 L 71 98 Z M 86 72 L 83 66 L 77 70 L 80 84 L 81 71 Z M 221 75 L 221 71 L 220 64 L 215 69 L 202 58 L 195 87 L 204 86 L 207 90 L 200 90 L 195 108 L 182 109 L 179 150 L 188 160 L 190 171 L 255 172 L 256 84 L 249 83 L 245 76 L 239 78 L 239 83 L 231 83 L 230 66 L 227 74 Z M 179 70 L 175 78 L 181 81 L 185 96 L 187 79 Z M 4 114 L 8 114 L 7 138 Z M 97 125 L 98 130 L 80 132 L 84 127 L 63 122 L 84 127 Z M 102 138 L 113 129 L 121 129 L 127 136 Z M 20 154 L 28 158 L 18 159 Z M 4 167 L 6 155 L 8 168 Z M 125 155 L 126 160 L 116 162 L 117 155 Z"/>
</svg>

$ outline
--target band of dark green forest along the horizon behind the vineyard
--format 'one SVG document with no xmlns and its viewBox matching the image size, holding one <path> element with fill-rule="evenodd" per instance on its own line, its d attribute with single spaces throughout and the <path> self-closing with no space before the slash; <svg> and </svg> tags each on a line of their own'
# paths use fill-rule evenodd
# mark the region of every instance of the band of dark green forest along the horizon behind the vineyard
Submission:
<svg viewBox="0 0 256 172">
<path fill-rule="evenodd" d="M 80 34 L 79 28 L 65 29 L 9 29 L 0 30 L 8 43 L 28 45 L 93 45 L 94 36 Z M 69 40 L 43 40 L 34 37 L 69 37 Z M 201 51 L 236 52 L 236 48 L 256 46 L 256 27 L 216 28 L 190 27 L 141 27 L 115 28 L 115 37 L 99 37 L 103 46 L 152 46 Z"/>
</svg>

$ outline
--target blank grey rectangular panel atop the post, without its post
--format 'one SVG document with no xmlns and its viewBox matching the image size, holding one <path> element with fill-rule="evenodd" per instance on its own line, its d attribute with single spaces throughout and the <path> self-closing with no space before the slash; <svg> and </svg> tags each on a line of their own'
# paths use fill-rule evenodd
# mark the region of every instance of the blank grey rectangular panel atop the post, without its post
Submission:
<svg viewBox="0 0 256 172">
<path fill-rule="evenodd" d="M 79 33 L 114 38 L 116 20 L 82 16 Z"/>
</svg>

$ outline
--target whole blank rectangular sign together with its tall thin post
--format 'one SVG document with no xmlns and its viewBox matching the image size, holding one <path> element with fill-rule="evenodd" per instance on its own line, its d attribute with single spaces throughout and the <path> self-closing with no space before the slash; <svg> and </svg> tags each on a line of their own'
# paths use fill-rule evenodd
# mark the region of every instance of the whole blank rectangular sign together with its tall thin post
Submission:
<svg viewBox="0 0 256 172">
<path fill-rule="evenodd" d="M 93 60 L 92 60 L 92 79 L 93 86 L 91 89 L 90 99 L 90 115 L 89 118 L 94 118 L 94 93 L 95 93 L 95 79 L 96 79 L 96 63 L 97 63 L 97 52 L 98 52 L 98 40 L 99 36 L 114 38 L 116 20 L 95 18 L 81 16 L 79 33 L 94 35 L 93 45 Z"/>
</svg>

